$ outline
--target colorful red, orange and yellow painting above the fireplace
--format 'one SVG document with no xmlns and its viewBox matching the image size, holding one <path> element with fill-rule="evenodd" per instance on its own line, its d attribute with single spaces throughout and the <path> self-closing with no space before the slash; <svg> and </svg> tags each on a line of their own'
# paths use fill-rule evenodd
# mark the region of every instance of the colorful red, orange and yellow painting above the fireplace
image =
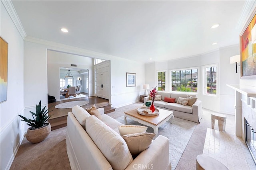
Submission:
<svg viewBox="0 0 256 170">
<path fill-rule="evenodd" d="M 256 10 L 240 34 L 241 78 L 256 78 Z"/>
</svg>

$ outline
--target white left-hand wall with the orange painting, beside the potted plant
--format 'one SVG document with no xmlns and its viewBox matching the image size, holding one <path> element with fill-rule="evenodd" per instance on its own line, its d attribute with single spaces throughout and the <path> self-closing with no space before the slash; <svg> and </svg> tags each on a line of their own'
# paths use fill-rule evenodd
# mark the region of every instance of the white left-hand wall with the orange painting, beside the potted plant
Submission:
<svg viewBox="0 0 256 170">
<path fill-rule="evenodd" d="M 8 42 L 8 84 L 7 101 L 0 104 L 1 170 L 10 168 L 24 137 L 24 123 L 18 117 L 24 115 L 24 42 L 2 3 L 0 35 Z"/>
</svg>

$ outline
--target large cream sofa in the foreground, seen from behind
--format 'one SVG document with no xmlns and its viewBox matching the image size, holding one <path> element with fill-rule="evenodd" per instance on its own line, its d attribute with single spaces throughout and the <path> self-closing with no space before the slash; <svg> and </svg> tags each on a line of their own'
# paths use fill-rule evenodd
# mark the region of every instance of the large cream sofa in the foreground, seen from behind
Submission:
<svg viewBox="0 0 256 170">
<path fill-rule="evenodd" d="M 68 113 L 66 135 L 72 170 L 171 169 L 168 138 L 159 135 L 146 150 L 132 158 L 118 132 L 121 123 L 105 115 L 102 108 L 98 109 L 100 120 L 82 107 L 75 107 Z"/>
</svg>

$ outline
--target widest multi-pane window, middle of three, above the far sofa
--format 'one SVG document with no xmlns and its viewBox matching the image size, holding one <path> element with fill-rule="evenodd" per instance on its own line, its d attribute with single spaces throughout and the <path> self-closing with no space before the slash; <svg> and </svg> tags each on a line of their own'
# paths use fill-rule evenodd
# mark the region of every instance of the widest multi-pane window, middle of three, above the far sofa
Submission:
<svg viewBox="0 0 256 170">
<path fill-rule="evenodd" d="M 172 70 L 171 88 L 172 91 L 197 93 L 198 69 L 189 68 L 186 70 Z"/>
</svg>

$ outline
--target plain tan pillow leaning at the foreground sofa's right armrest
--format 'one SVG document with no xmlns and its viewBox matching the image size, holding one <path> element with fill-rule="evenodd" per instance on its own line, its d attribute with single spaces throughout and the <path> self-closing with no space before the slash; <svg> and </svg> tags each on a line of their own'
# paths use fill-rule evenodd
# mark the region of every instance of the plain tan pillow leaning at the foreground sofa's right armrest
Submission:
<svg viewBox="0 0 256 170">
<path fill-rule="evenodd" d="M 140 154 L 151 144 L 155 133 L 134 133 L 122 136 L 133 156 Z"/>
</svg>

